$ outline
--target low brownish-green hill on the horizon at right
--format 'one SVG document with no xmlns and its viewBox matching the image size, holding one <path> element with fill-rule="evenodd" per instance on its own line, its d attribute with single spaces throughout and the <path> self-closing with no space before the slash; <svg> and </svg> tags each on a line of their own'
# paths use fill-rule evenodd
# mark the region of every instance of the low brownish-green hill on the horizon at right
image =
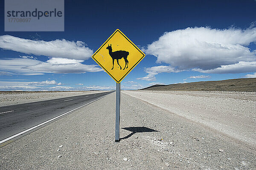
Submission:
<svg viewBox="0 0 256 170">
<path fill-rule="evenodd" d="M 156 84 L 141 90 L 256 92 L 256 78 L 238 78 L 221 81 L 199 81 L 169 85 Z"/>
</svg>

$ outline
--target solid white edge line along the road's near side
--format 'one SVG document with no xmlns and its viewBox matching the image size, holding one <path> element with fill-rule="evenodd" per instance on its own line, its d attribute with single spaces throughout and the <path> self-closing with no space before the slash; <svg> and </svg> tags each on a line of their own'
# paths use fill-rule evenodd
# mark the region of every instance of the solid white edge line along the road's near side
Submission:
<svg viewBox="0 0 256 170">
<path fill-rule="evenodd" d="M 111 94 L 111 93 L 110 93 L 110 94 Z M 108 95 L 110 95 L 110 94 L 108 94 Z M 107 95 L 105 95 L 105 96 L 103 96 L 103 97 L 101 97 L 101 98 L 104 98 L 104 97 L 106 97 L 106 96 L 107 96 Z M 94 100 L 94 101 L 97 101 L 97 100 L 99 100 L 99 99 L 101 99 L 101 98 L 98 98 L 98 99 L 96 99 L 96 100 Z M 87 103 L 87 104 L 84 104 L 84 105 L 82 105 L 82 106 L 80 106 L 80 107 L 77 107 L 76 109 L 73 109 L 73 110 L 70 110 L 70 111 L 68 111 L 68 112 L 65 112 L 65 113 L 63 113 L 63 114 L 61 114 L 61 115 L 58 115 L 58 116 L 56 116 L 55 118 L 49 119 L 48 121 L 45 121 L 45 122 L 43 122 L 43 123 L 41 123 L 41 124 L 38 124 L 38 125 L 36 125 L 36 126 L 34 126 L 34 127 L 30 127 L 30 128 L 27 129 L 27 130 L 23 130 L 22 132 L 17 133 L 17 134 L 15 134 L 15 135 L 12 135 L 12 136 L 10 136 L 9 138 L 5 138 L 5 139 L 3 139 L 2 141 L 0 141 L 0 144 L 2 144 L 3 142 L 9 141 L 10 139 L 15 138 L 15 137 L 17 137 L 17 136 L 19 136 L 19 135 L 22 135 L 23 133 L 29 132 L 30 130 L 33 130 L 33 129 L 37 128 L 37 127 L 40 127 L 40 126 L 42 126 L 42 125 L 44 125 L 44 124 L 47 124 L 47 123 L 49 123 L 50 121 L 53 121 L 53 120 L 55 120 L 55 119 L 57 119 L 57 118 L 60 118 L 61 116 L 67 115 L 68 113 L 73 112 L 73 111 L 75 111 L 75 110 L 77 110 L 77 109 L 80 109 L 81 107 L 84 107 L 84 106 L 86 106 L 86 105 L 88 105 L 88 104 L 91 104 L 91 103 L 93 103 L 94 101 L 91 101 L 91 102 L 89 102 L 89 103 Z"/>
</svg>

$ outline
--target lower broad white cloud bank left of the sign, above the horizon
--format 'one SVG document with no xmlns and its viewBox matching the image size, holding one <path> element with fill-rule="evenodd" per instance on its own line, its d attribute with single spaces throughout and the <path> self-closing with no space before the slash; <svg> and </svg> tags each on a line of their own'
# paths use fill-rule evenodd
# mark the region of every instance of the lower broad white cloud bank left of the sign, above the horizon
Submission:
<svg viewBox="0 0 256 170">
<path fill-rule="evenodd" d="M 49 58 L 46 62 L 31 58 L 0 59 L 0 75 L 43 75 L 44 73 L 100 72 L 97 65 L 82 64 L 83 60 Z"/>
</svg>

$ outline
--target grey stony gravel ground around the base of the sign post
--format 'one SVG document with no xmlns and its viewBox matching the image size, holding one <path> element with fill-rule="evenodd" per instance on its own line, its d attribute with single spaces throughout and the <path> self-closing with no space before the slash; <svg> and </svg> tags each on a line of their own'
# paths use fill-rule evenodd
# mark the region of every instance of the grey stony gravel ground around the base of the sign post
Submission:
<svg viewBox="0 0 256 170">
<path fill-rule="evenodd" d="M 122 140 L 115 143 L 115 93 L 111 93 L 0 148 L 0 167 L 4 170 L 256 169 L 253 147 L 125 93 L 121 93 L 120 117 Z M 122 129 L 125 127 L 130 128 Z"/>
</svg>

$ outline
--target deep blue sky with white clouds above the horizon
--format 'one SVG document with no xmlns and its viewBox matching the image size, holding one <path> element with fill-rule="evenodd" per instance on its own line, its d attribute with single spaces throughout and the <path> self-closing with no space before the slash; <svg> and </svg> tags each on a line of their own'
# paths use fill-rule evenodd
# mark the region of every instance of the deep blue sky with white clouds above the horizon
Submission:
<svg viewBox="0 0 256 170">
<path fill-rule="evenodd" d="M 114 89 L 90 57 L 116 29 L 146 54 L 122 89 L 256 77 L 254 0 L 65 0 L 64 32 L 4 32 L 0 8 L 0 90 Z"/>
</svg>

